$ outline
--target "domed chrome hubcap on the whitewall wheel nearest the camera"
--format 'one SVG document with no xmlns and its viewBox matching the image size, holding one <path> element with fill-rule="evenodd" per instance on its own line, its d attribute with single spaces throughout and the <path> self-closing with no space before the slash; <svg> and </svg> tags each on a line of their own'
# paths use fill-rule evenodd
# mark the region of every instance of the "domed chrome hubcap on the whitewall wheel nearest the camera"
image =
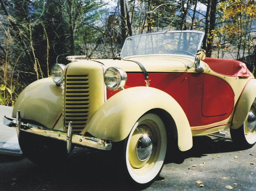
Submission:
<svg viewBox="0 0 256 191">
<path fill-rule="evenodd" d="M 137 156 L 141 161 L 147 160 L 153 151 L 153 143 L 150 135 L 143 134 L 137 144 Z"/>
</svg>

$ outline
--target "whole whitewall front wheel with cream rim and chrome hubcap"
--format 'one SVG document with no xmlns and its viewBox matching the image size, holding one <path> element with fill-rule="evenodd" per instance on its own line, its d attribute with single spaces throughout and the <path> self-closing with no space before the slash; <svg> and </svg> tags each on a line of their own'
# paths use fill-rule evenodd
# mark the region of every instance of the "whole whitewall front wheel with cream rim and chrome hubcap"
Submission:
<svg viewBox="0 0 256 191">
<path fill-rule="evenodd" d="M 166 154 L 167 135 L 162 119 L 154 113 L 145 114 L 122 144 L 123 151 L 117 151 L 121 152 L 120 169 L 125 178 L 142 187 L 151 184 L 159 175 Z"/>
</svg>

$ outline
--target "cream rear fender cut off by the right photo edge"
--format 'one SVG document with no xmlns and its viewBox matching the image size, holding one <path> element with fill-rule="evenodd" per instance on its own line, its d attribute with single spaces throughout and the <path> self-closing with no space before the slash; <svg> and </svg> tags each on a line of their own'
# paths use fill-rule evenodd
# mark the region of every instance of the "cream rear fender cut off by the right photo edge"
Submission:
<svg viewBox="0 0 256 191">
<path fill-rule="evenodd" d="M 255 98 L 256 79 L 250 79 L 236 104 L 231 129 L 238 129 L 241 125 L 243 125 Z"/>
</svg>

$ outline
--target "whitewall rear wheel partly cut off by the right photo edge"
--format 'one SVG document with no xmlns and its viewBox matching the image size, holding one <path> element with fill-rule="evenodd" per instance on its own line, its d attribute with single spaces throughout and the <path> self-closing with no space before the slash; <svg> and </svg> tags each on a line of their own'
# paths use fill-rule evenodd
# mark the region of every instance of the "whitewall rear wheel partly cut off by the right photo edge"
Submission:
<svg viewBox="0 0 256 191">
<path fill-rule="evenodd" d="M 232 141 L 240 148 L 251 148 L 256 143 L 256 99 L 254 100 L 246 120 L 238 129 L 230 129 Z"/>
</svg>

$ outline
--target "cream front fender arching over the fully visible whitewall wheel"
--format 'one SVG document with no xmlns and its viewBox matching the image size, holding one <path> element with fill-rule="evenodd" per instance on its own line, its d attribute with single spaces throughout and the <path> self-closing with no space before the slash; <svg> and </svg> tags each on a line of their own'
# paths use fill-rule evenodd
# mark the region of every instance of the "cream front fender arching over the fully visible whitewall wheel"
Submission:
<svg viewBox="0 0 256 191">
<path fill-rule="evenodd" d="M 113 142 L 122 141 L 144 113 L 156 108 L 172 116 L 177 127 L 178 146 L 181 151 L 189 150 L 192 133 L 183 109 L 169 94 L 151 87 L 127 88 L 113 95 L 94 114 L 87 132 Z"/>
</svg>

